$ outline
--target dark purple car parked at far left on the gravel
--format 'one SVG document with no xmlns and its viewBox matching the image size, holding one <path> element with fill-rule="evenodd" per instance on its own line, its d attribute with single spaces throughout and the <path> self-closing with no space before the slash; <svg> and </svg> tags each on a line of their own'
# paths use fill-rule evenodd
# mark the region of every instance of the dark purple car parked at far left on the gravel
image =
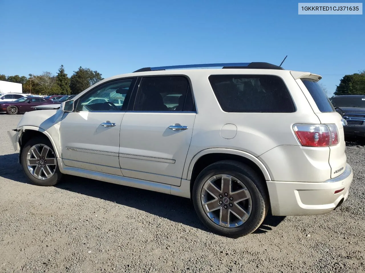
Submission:
<svg viewBox="0 0 365 273">
<path fill-rule="evenodd" d="M 32 106 L 38 106 L 43 104 L 54 104 L 50 99 L 41 97 L 23 97 L 15 100 L 14 102 L 0 102 L 0 113 L 7 113 L 9 115 L 16 115 L 19 113 L 34 111 Z"/>
</svg>

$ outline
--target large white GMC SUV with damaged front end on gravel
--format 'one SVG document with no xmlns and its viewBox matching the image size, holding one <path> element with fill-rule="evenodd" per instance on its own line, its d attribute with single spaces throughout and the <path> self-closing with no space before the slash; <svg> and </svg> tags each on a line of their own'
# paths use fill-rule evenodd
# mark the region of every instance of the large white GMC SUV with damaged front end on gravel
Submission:
<svg viewBox="0 0 365 273">
<path fill-rule="evenodd" d="M 178 69 L 195 67 L 222 68 Z M 191 198 L 211 230 L 238 237 L 268 211 L 324 214 L 347 198 L 346 122 L 320 79 L 268 63 L 142 68 L 8 132 L 36 185 L 70 174 Z"/>
</svg>

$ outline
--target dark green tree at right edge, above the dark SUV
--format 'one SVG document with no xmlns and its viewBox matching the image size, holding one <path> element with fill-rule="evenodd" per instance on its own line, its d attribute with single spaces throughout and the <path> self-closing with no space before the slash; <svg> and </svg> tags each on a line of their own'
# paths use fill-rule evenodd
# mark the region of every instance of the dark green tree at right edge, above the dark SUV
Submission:
<svg viewBox="0 0 365 273">
<path fill-rule="evenodd" d="M 334 94 L 365 94 L 365 70 L 343 76 Z"/>
</svg>

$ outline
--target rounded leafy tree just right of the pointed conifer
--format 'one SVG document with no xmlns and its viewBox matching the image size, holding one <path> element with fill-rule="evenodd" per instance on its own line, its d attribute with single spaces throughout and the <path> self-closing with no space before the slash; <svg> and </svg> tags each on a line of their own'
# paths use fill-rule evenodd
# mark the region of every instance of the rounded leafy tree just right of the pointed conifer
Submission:
<svg viewBox="0 0 365 273">
<path fill-rule="evenodd" d="M 99 72 L 80 66 L 77 71 L 73 72 L 70 78 L 71 94 L 76 95 L 100 80 L 103 80 L 103 78 Z"/>
</svg>

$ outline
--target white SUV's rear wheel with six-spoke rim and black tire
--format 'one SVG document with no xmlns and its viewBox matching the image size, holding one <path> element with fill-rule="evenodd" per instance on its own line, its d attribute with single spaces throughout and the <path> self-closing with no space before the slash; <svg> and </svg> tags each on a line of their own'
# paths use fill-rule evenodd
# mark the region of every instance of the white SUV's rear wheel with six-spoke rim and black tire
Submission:
<svg viewBox="0 0 365 273">
<path fill-rule="evenodd" d="M 219 161 L 196 178 L 192 199 L 200 220 L 214 233 L 241 237 L 264 221 L 269 201 L 264 181 L 249 166 Z"/>
</svg>

